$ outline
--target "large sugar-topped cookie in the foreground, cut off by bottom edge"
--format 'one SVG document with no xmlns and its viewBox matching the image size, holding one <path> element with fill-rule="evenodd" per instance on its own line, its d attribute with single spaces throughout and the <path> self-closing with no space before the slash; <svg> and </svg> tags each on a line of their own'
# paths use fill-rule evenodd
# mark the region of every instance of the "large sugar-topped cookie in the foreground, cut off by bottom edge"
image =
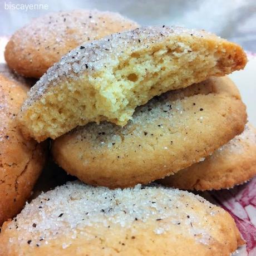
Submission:
<svg viewBox="0 0 256 256">
<path fill-rule="evenodd" d="M 243 244 L 227 211 L 161 186 L 80 182 L 41 194 L 0 234 L 0 255 L 223 255 Z"/>
</svg>

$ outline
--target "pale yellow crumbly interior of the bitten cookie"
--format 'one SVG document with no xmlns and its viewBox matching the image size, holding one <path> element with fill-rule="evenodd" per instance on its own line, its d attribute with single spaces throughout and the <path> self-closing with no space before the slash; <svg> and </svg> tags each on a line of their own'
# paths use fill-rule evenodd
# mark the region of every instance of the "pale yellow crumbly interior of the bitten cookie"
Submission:
<svg viewBox="0 0 256 256">
<path fill-rule="evenodd" d="M 232 72 L 239 65 L 237 52 L 221 47 L 193 36 L 183 42 L 174 37 L 165 47 L 162 42 L 129 55 L 122 53 L 115 65 L 105 65 L 89 75 L 81 73 L 75 79 L 67 77 L 51 87 L 30 110 L 28 107 L 21 121 L 38 141 L 55 139 L 90 121 L 124 126 L 136 106 L 152 97 Z M 73 72 L 79 73 L 85 65 L 73 63 Z M 65 70 L 66 64 L 62 68 Z"/>
</svg>

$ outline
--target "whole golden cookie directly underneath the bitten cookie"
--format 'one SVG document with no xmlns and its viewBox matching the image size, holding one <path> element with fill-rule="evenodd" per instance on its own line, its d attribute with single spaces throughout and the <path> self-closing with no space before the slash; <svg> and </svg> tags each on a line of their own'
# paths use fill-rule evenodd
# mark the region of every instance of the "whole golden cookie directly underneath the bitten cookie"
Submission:
<svg viewBox="0 0 256 256">
<path fill-rule="evenodd" d="M 124 127 L 109 122 L 77 127 L 53 141 L 52 154 L 87 184 L 147 184 L 208 156 L 240 134 L 246 119 L 234 83 L 211 77 L 138 107 Z"/>
</svg>

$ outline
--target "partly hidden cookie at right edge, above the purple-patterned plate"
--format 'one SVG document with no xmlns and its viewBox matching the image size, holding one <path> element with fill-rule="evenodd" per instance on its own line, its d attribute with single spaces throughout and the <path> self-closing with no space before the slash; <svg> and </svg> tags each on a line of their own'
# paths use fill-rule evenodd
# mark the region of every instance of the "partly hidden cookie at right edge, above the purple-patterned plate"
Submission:
<svg viewBox="0 0 256 256">
<path fill-rule="evenodd" d="M 227 189 L 256 175 L 256 130 L 246 125 L 242 134 L 216 150 L 204 161 L 170 175 L 160 183 L 179 189 Z"/>
</svg>

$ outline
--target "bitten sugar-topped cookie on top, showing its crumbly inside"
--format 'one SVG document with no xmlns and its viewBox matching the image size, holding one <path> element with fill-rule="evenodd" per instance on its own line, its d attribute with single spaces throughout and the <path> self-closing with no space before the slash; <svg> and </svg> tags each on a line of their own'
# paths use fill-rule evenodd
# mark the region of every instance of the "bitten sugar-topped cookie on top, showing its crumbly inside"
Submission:
<svg viewBox="0 0 256 256">
<path fill-rule="evenodd" d="M 137 106 L 163 92 L 247 62 L 242 48 L 205 31 L 143 27 L 83 44 L 51 67 L 29 92 L 19 114 L 37 141 L 88 122 L 124 126 Z"/>
</svg>

